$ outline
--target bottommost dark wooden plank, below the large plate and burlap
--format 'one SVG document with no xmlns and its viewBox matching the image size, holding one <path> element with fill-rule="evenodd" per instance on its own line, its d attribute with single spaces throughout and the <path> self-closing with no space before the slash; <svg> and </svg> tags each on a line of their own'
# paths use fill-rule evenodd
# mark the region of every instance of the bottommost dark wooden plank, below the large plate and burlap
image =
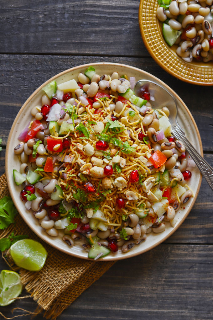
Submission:
<svg viewBox="0 0 213 320">
<path fill-rule="evenodd" d="M 211 320 L 212 263 L 212 245 L 161 244 L 116 262 L 57 319 Z M 12 306 L 33 311 L 35 303 L 19 300 L 1 311 L 10 316 Z"/>
</svg>

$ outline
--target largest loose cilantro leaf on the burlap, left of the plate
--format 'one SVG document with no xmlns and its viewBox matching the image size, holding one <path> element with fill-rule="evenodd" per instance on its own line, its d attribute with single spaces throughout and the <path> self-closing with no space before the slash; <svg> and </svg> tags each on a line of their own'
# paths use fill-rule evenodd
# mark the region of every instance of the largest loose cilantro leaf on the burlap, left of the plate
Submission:
<svg viewBox="0 0 213 320">
<path fill-rule="evenodd" d="M 0 229 L 7 228 L 14 223 L 17 210 L 12 202 L 11 196 L 4 196 L 0 200 Z"/>
</svg>

